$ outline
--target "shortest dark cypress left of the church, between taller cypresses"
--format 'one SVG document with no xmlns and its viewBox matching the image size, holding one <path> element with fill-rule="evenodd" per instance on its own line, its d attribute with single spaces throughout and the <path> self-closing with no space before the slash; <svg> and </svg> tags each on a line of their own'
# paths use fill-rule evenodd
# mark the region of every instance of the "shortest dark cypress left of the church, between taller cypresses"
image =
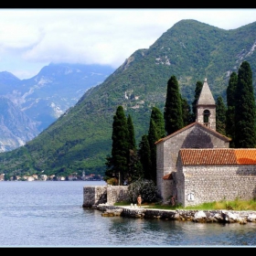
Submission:
<svg viewBox="0 0 256 256">
<path fill-rule="evenodd" d="M 152 169 L 151 150 L 146 134 L 142 136 L 142 140 L 139 144 L 138 155 L 143 169 L 143 177 L 145 179 L 150 179 L 150 173 Z"/>
</svg>

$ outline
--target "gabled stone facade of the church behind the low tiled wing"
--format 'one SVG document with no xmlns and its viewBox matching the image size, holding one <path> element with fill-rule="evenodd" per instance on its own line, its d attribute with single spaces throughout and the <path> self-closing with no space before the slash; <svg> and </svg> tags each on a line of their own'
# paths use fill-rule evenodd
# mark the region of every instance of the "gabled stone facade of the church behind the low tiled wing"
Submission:
<svg viewBox="0 0 256 256">
<path fill-rule="evenodd" d="M 201 123 L 191 123 L 156 143 L 156 186 L 160 197 L 167 201 L 175 193 L 173 182 L 163 177 L 176 172 L 180 148 L 229 148 L 229 138 Z"/>
</svg>

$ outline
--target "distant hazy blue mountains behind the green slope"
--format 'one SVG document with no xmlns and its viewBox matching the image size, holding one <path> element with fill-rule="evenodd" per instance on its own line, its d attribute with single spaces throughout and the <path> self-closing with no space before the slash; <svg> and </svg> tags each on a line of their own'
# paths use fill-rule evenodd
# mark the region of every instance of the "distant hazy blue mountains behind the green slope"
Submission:
<svg viewBox="0 0 256 256">
<path fill-rule="evenodd" d="M 0 72 L 0 152 L 36 137 L 113 70 L 100 65 L 49 64 L 28 80 Z"/>
</svg>

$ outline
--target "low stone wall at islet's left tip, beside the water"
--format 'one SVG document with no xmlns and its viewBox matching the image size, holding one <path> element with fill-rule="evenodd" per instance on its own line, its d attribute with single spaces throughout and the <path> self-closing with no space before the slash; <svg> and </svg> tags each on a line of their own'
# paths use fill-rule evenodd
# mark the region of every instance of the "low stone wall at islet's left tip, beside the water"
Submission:
<svg viewBox="0 0 256 256">
<path fill-rule="evenodd" d="M 83 187 L 83 208 L 94 205 L 107 204 L 113 206 L 115 202 L 128 200 L 128 186 L 91 186 Z"/>
</svg>

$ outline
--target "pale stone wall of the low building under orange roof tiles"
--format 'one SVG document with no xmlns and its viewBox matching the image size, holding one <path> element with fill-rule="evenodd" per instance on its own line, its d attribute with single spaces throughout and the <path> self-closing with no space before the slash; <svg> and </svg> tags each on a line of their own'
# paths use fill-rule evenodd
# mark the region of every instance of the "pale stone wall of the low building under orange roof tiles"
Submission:
<svg viewBox="0 0 256 256">
<path fill-rule="evenodd" d="M 256 165 L 188 165 L 178 162 L 177 202 L 183 207 L 204 202 L 256 197 Z"/>
</svg>

